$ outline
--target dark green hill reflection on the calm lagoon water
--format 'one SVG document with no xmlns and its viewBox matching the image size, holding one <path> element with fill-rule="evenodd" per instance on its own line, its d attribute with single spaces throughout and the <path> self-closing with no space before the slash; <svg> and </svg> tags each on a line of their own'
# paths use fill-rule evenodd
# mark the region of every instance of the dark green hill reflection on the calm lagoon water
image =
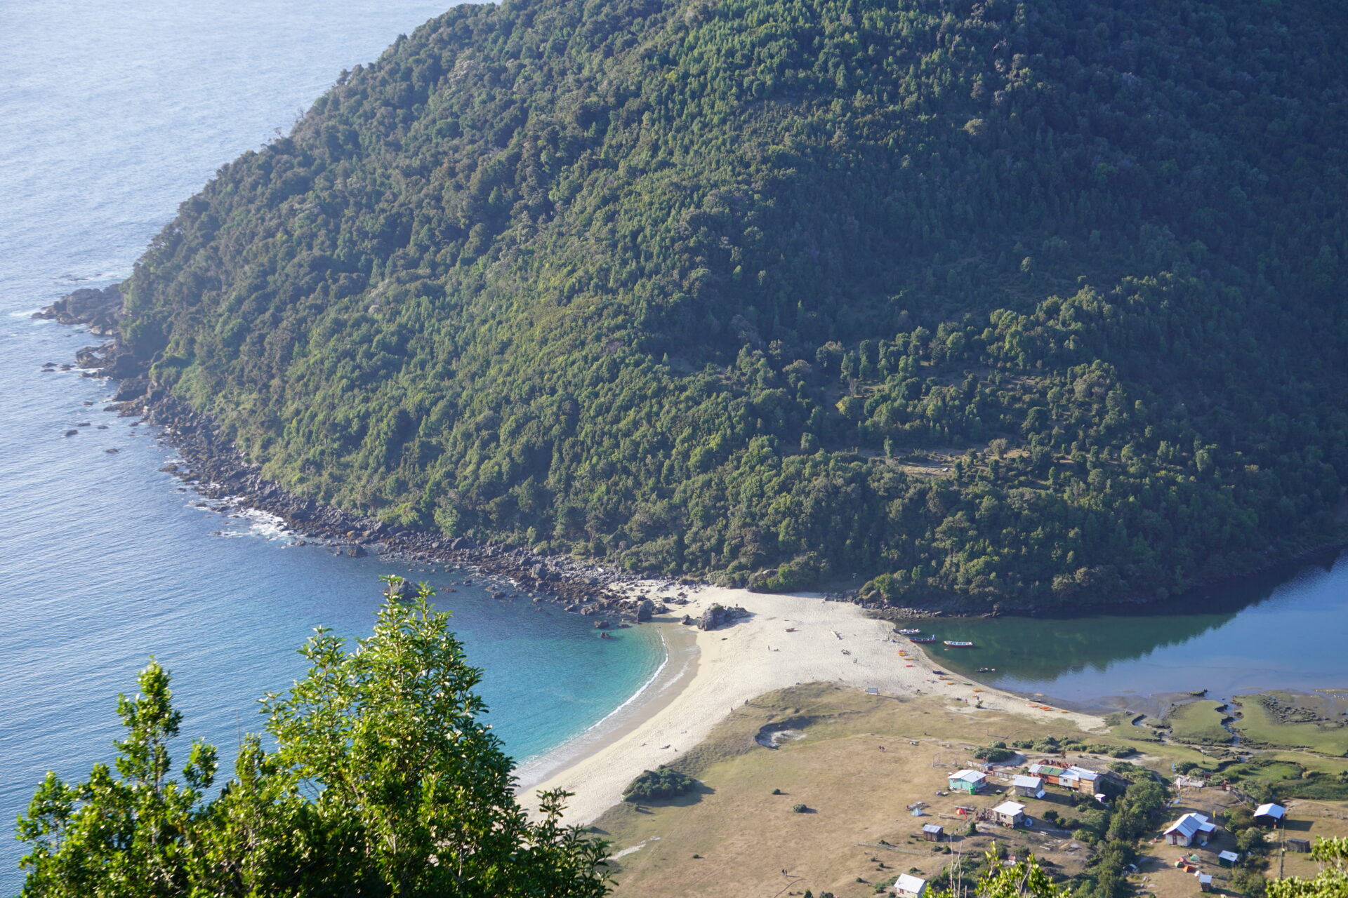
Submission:
<svg viewBox="0 0 1348 898">
<path fill-rule="evenodd" d="M 1088 668 L 1104 670 L 1190 642 L 1270 599 L 1289 600 L 1290 607 L 1298 591 L 1321 583 L 1340 561 L 1344 561 L 1340 572 L 1348 576 L 1348 560 L 1335 552 L 1165 605 L 1113 609 L 1109 614 L 941 621 L 930 625 L 941 640 L 973 640 L 977 649 L 961 653 L 941 646 L 934 656 L 965 672 L 988 666 L 1037 681 L 1058 680 Z M 1275 618 L 1268 621 L 1273 625 Z"/>
</svg>

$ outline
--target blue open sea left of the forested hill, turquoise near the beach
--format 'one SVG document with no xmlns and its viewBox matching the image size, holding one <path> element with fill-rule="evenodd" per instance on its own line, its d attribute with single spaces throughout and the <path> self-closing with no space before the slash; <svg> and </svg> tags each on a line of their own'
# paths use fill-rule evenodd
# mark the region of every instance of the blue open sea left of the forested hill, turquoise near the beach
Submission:
<svg viewBox="0 0 1348 898">
<path fill-rule="evenodd" d="M 198 508 L 159 471 L 173 452 L 152 428 L 100 411 L 108 384 L 42 370 L 101 341 L 34 310 L 124 277 L 216 168 L 443 8 L 0 3 L 0 829 L 47 769 L 74 778 L 111 759 L 116 696 L 151 654 L 185 712 L 179 758 L 197 735 L 229 755 L 260 727 L 255 699 L 303 673 L 295 649 L 313 626 L 369 631 L 380 574 L 443 590 L 485 669 L 488 719 L 520 761 L 604 718 L 663 661 L 644 629 L 600 640 L 584 618 L 489 599 L 472 575 L 336 557 Z M 22 854 L 0 833 L 0 894 L 18 891 Z"/>
</svg>

